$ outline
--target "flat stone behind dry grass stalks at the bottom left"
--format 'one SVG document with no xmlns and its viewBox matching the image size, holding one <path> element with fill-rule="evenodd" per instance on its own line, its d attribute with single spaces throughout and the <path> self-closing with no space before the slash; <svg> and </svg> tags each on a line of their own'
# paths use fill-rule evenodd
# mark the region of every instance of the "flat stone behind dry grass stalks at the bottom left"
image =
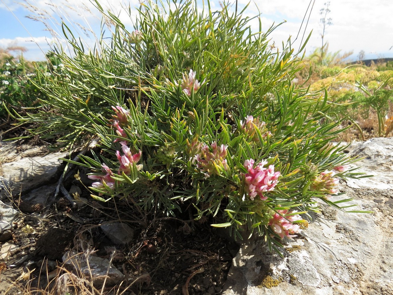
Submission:
<svg viewBox="0 0 393 295">
<path fill-rule="evenodd" d="M 86 256 L 88 256 L 88 263 Z M 119 284 L 124 279 L 124 275 L 106 258 L 86 253 L 67 252 L 63 256 L 63 262 L 76 274 L 83 274 L 85 278 L 92 279 L 96 288 L 103 285 L 105 278 L 106 286 Z"/>
</svg>

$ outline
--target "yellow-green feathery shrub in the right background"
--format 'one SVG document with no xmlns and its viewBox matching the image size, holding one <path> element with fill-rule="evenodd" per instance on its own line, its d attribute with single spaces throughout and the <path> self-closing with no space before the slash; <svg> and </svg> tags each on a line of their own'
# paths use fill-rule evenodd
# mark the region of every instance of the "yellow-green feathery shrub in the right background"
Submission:
<svg viewBox="0 0 393 295">
<path fill-rule="evenodd" d="M 359 116 L 364 119 L 369 118 L 371 109 L 375 111 L 378 118 L 378 136 L 389 135 L 392 130 L 391 120 L 386 120 L 386 116 L 392 117 L 393 115 L 391 113 L 393 103 L 392 70 L 378 72 L 373 68 L 356 65 L 341 70 L 333 67 L 323 73 L 327 77 L 314 82 L 310 86 L 310 90 L 327 89 L 331 111 L 335 112 L 340 120 L 349 119 L 358 128 L 364 139 L 356 120 Z"/>
</svg>

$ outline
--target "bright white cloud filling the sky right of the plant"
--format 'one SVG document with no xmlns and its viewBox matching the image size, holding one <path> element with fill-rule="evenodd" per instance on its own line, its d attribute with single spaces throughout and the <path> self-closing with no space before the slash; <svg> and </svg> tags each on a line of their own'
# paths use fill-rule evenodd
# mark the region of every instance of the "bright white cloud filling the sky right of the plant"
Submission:
<svg viewBox="0 0 393 295">
<path fill-rule="evenodd" d="M 245 4 L 247 0 L 239 0 Z M 369 52 L 386 52 L 393 45 L 393 22 L 391 13 L 393 2 L 390 0 L 331 0 L 328 17 L 332 25 L 325 31 L 325 40 L 329 42 L 329 50 L 342 52 L 360 50 Z M 257 2 L 262 16 L 280 22 L 283 18 L 288 22 L 277 28 L 272 39 L 277 43 L 286 40 L 289 35 L 296 37 L 309 0 L 261 0 Z M 316 1 L 310 15 L 306 36 L 313 29 L 312 37 L 307 45 L 307 52 L 321 46 L 322 32 L 319 14 L 325 1 Z M 307 18 L 306 18 L 307 20 Z M 303 30 L 302 30 L 303 33 Z M 299 45 L 299 44 L 298 44 Z M 393 50 L 391 50 L 393 56 Z"/>
</svg>

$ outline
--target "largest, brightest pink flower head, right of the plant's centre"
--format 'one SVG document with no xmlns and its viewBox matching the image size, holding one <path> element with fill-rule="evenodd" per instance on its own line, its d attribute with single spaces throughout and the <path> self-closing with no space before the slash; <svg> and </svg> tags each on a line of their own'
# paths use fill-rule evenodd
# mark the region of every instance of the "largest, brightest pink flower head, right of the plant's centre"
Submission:
<svg viewBox="0 0 393 295">
<path fill-rule="evenodd" d="M 264 201 L 267 197 L 263 193 L 274 190 L 281 173 L 274 172 L 274 165 L 264 168 L 263 166 L 267 164 L 266 160 L 259 162 L 255 168 L 254 163 L 253 159 L 244 161 L 244 167 L 248 170 L 248 173 L 244 174 L 246 192 L 252 201 L 257 196 Z"/>
</svg>

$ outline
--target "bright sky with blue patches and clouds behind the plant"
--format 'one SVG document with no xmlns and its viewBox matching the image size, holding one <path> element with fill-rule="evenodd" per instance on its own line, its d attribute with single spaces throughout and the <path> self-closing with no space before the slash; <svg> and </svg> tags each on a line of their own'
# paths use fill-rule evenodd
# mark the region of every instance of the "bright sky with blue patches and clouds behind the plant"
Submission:
<svg viewBox="0 0 393 295">
<path fill-rule="evenodd" d="M 198 2 L 200 1 L 198 0 Z M 104 6 L 108 2 L 108 0 L 103 0 L 100 3 Z M 139 6 L 138 0 L 129 2 L 111 0 L 110 2 L 111 7 L 116 7 L 117 11 L 120 11 L 118 7 L 121 3 L 128 4 L 130 2 L 132 7 Z M 239 9 L 242 9 L 249 1 L 238 0 L 238 2 Z M 310 30 L 313 30 L 312 37 L 306 47 L 307 54 L 321 46 L 320 9 L 324 7 L 325 2 L 325 0 L 314 1 L 306 31 L 307 35 Z M 325 40 L 329 42 L 329 51 L 341 50 L 342 53 L 353 51 L 352 59 L 356 59 L 360 50 L 364 50 L 368 58 L 393 57 L 393 48 L 390 49 L 393 46 L 393 22 L 391 21 L 393 1 L 374 0 L 372 4 L 369 0 L 331 0 L 330 2 L 331 12 L 329 17 L 332 18 L 332 25 L 327 28 L 325 33 Z M 86 26 L 86 23 L 99 25 L 100 19 L 95 16 L 88 0 L 31 0 L 30 3 L 33 3 L 40 10 L 45 10 L 50 15 L 63 15 L 71 22 L 81 23 L 83 26 Z M 250 3 L 245 14 L 250 17 L 254 16 L 257 13 L 255 7 L 257 6 L 262 13 L 261 19 L 264 30 L 273 22 L 279 23 L 286 20 L 285 24 L 270 35 L 272 42 L 280 44 L 281 41 L 286 41 L 290 35 L 292 35 L 292 40 L 296 37 L 309 4 L 310 0 L 255 0 Z M 213 9 L 219 9 L 220 2 L 211 0 L 211 5 Z M 86 13 L 85 7 L 92 12 Z M 81 12 L 83 11 L 85 12 L 82 16 Z M 47 52 L 50 48 L 48 44 L 53 44 L 55 39 L 52 38 L 49 31 L 45 30 L 46 28 L 41 22 L 26 18 L 30 14 L 31 12 L 28 9 L 16 4 L 13 0 L 0 0 L 0 19 L 2 20 L 0 22 L 0 47 L 24 46 L 28 49 L 24 53 L 27 59 L 42 60 L 44 59 L 44 52 Z M 58 17 L 57 20 L 59 20 Z M 125 19 L 124 22 L 129 27 L 132 26 L 129 19 Z M 59 32 L 59 26 L 51 23 L 52 28 L 56 26 Z M 252 28 L 257 31 L 256 21 L 252 22 Z M 76 26 L 75 30 L 78 30 Z M 31 37 L 34 38 L 35 42 L 32 41 Z M 301 37 L 296 41 L 298 45 L 300 39 Z"/>
</svg>

